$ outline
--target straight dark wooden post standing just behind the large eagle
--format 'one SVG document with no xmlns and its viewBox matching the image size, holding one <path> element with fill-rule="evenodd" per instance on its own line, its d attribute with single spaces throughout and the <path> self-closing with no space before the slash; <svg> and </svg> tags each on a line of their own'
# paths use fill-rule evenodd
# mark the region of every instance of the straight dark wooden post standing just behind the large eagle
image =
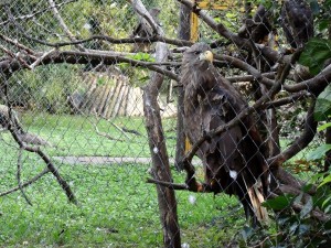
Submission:
<svg viewBox="0 0 331 248">
<path fill-rule="evenodd" d="M 181 40 L 190 40 L 190 14 L 191 11 L 188 7 L 181 6 L 180 10 L 180 29 L 179 29 L 179 39 Z M 177 144 L 175 144 L 175 159 L 174 166 L 177 170 L 181 171 L 179 164 L 181 164 L 181 160 L 185 153 L 185 133 L 184 133 L 184 121 L 183 121 L 183 105 L 184 105 L 184 90 L 183 87 L 178 87 L 178 114 L 177 114 Z"/>
</svg>

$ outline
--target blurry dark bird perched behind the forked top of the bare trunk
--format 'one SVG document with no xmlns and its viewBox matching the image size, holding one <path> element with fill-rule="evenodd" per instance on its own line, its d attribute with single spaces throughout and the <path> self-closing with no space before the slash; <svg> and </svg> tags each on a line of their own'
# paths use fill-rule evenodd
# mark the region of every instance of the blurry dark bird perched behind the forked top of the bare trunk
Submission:
<svg viewBox="0 0 331 248">
<path fill-rule="evenodd" d="M 159 24 L 158 15 L 160 13 L 160 9 L 152 8 L 148 11 L 153 19 L 153 21 Z M 150 37 L 153 35 L 153 30 L 149 22 L 142 18 L 139 24 L 135 28 L 132 32 L 132 37 Z M 148 52 L 150 44 L 147 43 L 137 43 L 135 44 L 134 52 Z"/>
</svg>

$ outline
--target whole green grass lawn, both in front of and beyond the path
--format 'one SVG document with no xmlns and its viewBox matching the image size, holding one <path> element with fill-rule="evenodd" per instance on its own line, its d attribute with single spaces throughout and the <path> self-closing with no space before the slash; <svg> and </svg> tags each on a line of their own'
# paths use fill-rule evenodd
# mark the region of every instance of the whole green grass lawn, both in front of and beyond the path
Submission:
<svg viewBox="0 0 331 248">
<path fill-rule="evenodd" d="M 141 133 L 118 131 L 106 120 L 99 131 L 125 141 L 97 136 L 94 118 L 25 114 L 24 127 L 47 139 L 45 151 L 58 155 L 149 157 L 143 121 L 116 118 L 113 123 Z M 170 157 L 173 157 L 174 119 L 164 120 Z M 0 192 L 17 185 L 17 145 L 1 133 Z M 23 153 L 22 180 L 45 166 L 33 153 Z M 162 247 L 156 187 L 146 183 L 150 164 L 66 164 L 54 160 L 70 183 L 78 206 L 70 204 L 60 185 L 47 174 L 24 191 L 0 197 L 0 247 Z M 172 171 L 175 182 L 184 174 Z M 224 247 L 245 224 L 243 209 L 226 195 L 177 192 L 182 242 L 190 247 Z"/>
</svg>

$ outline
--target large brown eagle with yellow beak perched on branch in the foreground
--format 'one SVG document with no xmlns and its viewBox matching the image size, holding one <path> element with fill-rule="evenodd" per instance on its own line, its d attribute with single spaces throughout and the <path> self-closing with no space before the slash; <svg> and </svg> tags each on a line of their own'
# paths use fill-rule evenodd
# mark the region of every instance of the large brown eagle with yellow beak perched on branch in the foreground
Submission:
<svg viewBox="0 0 331 248">
<path fill-rule="evenodd" d="M 193 144 L 247 108 L 239 93 L 214 67 L 213 53 L 205 43 L 195 43 L 184 52 L 181 84 L 185 136 Z M 196 155 L 203 162 L 205 175 L 205 187 L 201 188 L 236 195 L 247 218 L 266 220 L 261 203 L 268 193 L 269 177 L 264 153 L 254 119 L 247 116 L 200 147 Z"/>
</svg>

